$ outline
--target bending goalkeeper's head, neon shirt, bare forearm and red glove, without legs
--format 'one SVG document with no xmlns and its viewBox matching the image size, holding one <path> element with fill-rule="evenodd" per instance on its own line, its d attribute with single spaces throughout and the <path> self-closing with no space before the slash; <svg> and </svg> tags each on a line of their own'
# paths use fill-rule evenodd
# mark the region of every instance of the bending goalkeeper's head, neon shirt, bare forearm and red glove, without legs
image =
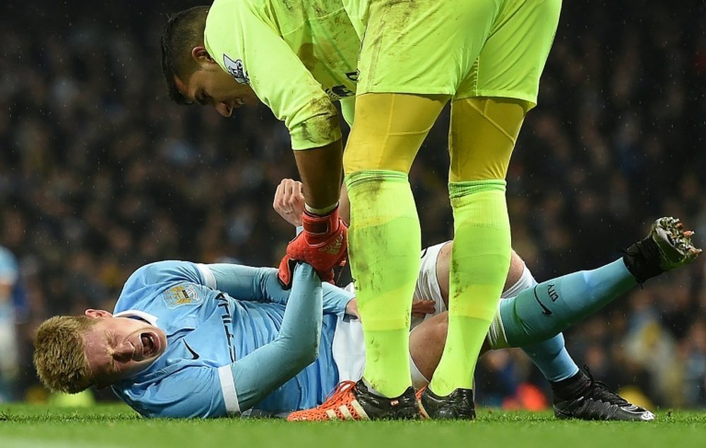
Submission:
<svg viewBox="0 0 706 448">
<path fill-rule="evenodd" d="M 287 247 L 280 280 L 294 260 L 323 280 L 345 261 L 338 218 L 342 143 L 333 100 L 352 119 L 360 40 L 340 1 L 219 0 L 170 18 L 162 36 L 169 96 L 230 116 L 258 100 L 287 125 L 306 191 L 304 232 Z"/>
</svg>

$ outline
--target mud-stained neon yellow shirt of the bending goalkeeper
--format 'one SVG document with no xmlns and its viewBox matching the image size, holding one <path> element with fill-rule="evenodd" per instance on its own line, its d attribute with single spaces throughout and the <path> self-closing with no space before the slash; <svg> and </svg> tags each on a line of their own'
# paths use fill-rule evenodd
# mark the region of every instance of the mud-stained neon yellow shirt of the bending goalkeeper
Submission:
<svg viewBox="0 0 706 448">
<path fill-rule="evenodd" d="M 215 0 L 204 43 L 285 122 L 293 149 L 341 138 L 332 101 L 355 95 L 360 46 L 341 0 Z"/>
</svg>

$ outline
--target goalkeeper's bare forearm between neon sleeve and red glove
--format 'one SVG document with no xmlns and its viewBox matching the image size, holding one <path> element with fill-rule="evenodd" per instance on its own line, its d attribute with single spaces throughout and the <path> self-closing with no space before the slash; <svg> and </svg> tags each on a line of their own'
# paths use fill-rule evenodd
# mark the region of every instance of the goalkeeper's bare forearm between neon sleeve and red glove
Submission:
<svg viewBox="0 0 706 448">
<path fill-rule="evenodd" d="M 336 204 L 343 172 L 341 141 L 321 148 L 294 151 L 294 158 L 304 184 L 306 204 L 313 208 L 328 208 Z"/>
</svg>

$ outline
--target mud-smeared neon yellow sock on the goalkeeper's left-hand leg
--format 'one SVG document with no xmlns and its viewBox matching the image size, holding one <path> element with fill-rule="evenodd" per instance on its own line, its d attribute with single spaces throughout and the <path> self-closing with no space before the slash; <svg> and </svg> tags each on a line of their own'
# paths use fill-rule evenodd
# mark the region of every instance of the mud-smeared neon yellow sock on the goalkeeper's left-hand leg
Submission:
<svg viewBox="0 0 706 448">
<path fill-rule="evenodd" d="M 409 320 L 419 273 L 421 230 L 407 175 L 364 170 L 346 176 L 348 251 L 365 335 L 364 378 L 399 396 L 412 385 Z"/>
</svg>

